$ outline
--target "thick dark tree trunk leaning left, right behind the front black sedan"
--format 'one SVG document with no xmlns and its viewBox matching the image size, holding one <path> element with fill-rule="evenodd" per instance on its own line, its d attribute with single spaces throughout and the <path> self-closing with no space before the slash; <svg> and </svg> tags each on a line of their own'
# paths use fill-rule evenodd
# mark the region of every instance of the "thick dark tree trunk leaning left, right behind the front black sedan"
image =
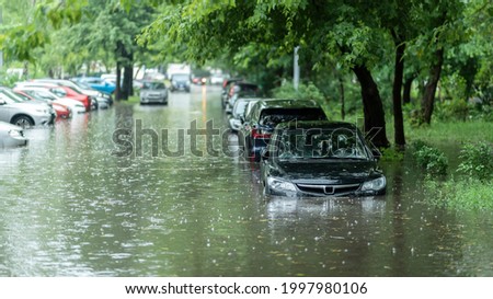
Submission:
<svg viewBox="0 0 493 299">
<path fill-rule="evenodd" d="M 386 117 L 378 87 L 366 66 L 352 68 L 362 87 L 363 108 L 365 114 L 365 131 L 374 133 L 370 141 L 376 147 L 389 147 L 386 135 Z"/>
</svg>

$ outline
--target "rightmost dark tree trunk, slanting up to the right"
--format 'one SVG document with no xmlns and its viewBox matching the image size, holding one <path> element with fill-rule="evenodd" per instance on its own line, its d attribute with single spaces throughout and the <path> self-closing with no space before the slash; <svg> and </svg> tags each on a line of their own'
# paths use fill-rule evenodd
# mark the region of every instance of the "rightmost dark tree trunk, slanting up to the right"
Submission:
<svg viewBox="0 0 493 299">
<path fill-rule="evenodd" d="M 435 51 L 435 59 L 429 70 L 429 78 L 425 87 L 423 100 L 421 102 L 422 123 L 431 124 L 433 106 L 435 103 L 435 92 L 438 81 L 440 80 L 442 65 L 444 64 L 444 49 Z"/>
</svg>

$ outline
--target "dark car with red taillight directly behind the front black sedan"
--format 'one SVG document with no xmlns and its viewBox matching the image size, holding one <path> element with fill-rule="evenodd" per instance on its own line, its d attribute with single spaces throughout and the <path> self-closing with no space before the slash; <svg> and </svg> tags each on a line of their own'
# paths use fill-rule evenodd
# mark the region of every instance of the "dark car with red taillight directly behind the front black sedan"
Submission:
<svg viewBox="0 0 493 299">
<path fill-rule="evenodd" d="M 325 113 L 311 100 L 260 100 L 242 119 L 239 146 L 245 158 L 260 160 L 260 152 L 271 140 L 279 123 L 297 120 L 326 120 Z"/>
</svg>

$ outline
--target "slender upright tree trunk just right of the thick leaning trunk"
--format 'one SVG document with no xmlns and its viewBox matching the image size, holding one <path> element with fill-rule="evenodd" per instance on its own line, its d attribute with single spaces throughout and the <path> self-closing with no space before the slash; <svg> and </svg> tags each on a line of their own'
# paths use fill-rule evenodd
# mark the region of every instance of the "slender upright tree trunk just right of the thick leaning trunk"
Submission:
<svg viewBox="0 0 493 299">
<path fill-rule="evenodd" d="M 394 142 L 397 147 L 405 146 L 404 137 L 404 119 L 402 117 L 402 78 L 404 74 L 404 49 L 405 44 L 401 43 L 399 38 L 394 39 L 395 47 L 395 68 L 393 72 L 393 88 L 392 88 L 392 102 L 393 102 L 393 131 Z"/>
</svg>

